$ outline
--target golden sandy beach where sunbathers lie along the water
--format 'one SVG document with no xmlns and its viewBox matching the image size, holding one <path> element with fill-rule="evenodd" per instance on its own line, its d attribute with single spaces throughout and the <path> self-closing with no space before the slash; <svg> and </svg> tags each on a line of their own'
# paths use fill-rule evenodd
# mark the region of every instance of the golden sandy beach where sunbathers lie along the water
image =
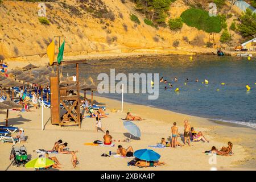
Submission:
<svg viewBox="0 0 256 182">
<path fill-rule="evenodd" d="M 255 170 L 255 133 L 254 129 L 240 125 L 231 125 L 229 123 L 215 122 L 210 119 L 194 117 L 191 115 L 174 113 L 172 111 L 157 109 L 150 106 L 124 104 L 124 111 L 121 113 L 121 102 L 110 100 L 104 97 L 94 97 L 98 105 L 107 107 L 108 118 L 102 119 L 104 130 L 109 130 L 113 139 L 123 140 L 129 137 L 127 130 L 123 127 L 121 118 L 125 118 L 127 111 L 133 115 L 140 115 L 145 120 L 134 121 L 141 129 L 142 137 L 133 139 L 132 142 L 114 142 L 115 147 L 85 146 L 84 143 L 90 143 L 94 140 L 102 140 L 104 133 L 95 132 L 95 118 L 85 118 L 82 120 L 81 129 L 78 127 L 60 127 L 51 125 L 50 109 L 44 109 L 44 130 L 42 131 L 42 110 L 33 110 L 28 113 L 19 113 L 10 111 L 9 125 L 22 127 L 27 142 L 16 144 L 25 145 L 29 156 L 37 158 L 38 155 L 33 150 L 45 149 L 51 150 L 53 144 L 62 139 L 68 143 L 69 150 L 78 150 L 77 158 L 80 164 L 73 168 L 71 164 L 71 155 L 68 154 L 50 154 L 59 159 L 60 170 L 210 170 L 216 167 L 218 170 Z M 110 110 L 117 109 L 117 113 Z M 5 115 L 1 114 L 0 125 L 5 124 Z M 196 131 L 202 131 L 205 137 L 210 140 L 205 142 L 192 142 L 192 146 L 183 146 L 180 148 L 152 148 L 148 145 L 155 145 L 160 142 L 162 137 L 170 138 L 171 126 L 177 122 L 180 133 L 184 130 L 184 119 L 188 119 Z M 178 140 L 181 142 L 181 138 Z M 229 141 L 233 142 L 232 156 L 217 156 L 216 164 L 209 164 L 209 155 L 203 154 L 205 150 L 210 150 L 212 146 L 221 148 L 227 146 Z M 109 151 L 116 152 L 117 146 L 123 147 L 130 145 L 134 150 L 150 148 L 161 155 L 160 161 L 166 165 L 160 167 L 138 168 L 127 166 L 130 158 L 102 157 L 101 154 L 108 154 Z M 12 143 L 0 144 L 0 170 L 34 170 L 24 167 L 11 165 L 9 160 Z"/>
</svg>

